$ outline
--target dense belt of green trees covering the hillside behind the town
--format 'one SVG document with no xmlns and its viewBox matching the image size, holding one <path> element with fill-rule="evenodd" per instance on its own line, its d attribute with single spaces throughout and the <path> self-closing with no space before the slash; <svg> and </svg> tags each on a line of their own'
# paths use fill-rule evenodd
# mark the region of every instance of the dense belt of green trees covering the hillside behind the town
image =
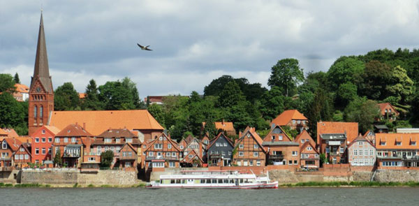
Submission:
<svg viewBox="0 0 419 206">
<path fill-rule="evenodd" d="M 200 96 L 167 96 L 163 105 L 145 105 L 129 78 L 97 86 L 90 80 L 86 97 L 78 98 L 71 82 L 55 90 L 55 110 L 130 110 L 145 109 L 168 129 L 172 138 L 204 132 L 215 134 L 214 122 L 233 122 L 237 130 L 256 127 L 265 135 L 271 119 L 284 110 L 297 109 L 309 119 L 316 133 L 318 121 L 358 122 L 360 132 L 373 124 L 385 124 L 390 130 L 418 126 L 419 121 L 419 50 L 376 50 L 365 55 L 339 57 L 327 72 L 304 71 L 297 59 L 281 59 L 272 66 L 267 82 L 249 83 L 246 78 L 223 75 L 213 80 Z M 304 73 L 305 72 L 305 73 Z M 18 128 L 27 133 L 27 103 L 10 98 L 15 75 L 0 75 L 0 126 Z M 10 86 L 11 85 L 11 86 Z M 390 102 L 400 112 L 395 122 L 378 117 L 377 103 Z M 13 111 L 13 112 L 10 112 Z M 10 115 L 9 113 L 13 113 Z M 26 129 L 26 130 L 25 130 Z M 290 131 L 295 135 L 295 131 Z"/>
</svg>

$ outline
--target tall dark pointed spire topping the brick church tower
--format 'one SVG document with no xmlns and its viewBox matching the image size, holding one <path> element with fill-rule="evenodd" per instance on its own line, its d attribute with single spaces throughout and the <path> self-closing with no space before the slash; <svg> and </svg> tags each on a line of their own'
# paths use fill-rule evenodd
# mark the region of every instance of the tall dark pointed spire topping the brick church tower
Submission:
<svg viewBox="0 0 419 206">
<path fill-rule="evenodd" d="M 41 10 L 41 22 L 39 23 L 38 45 L 36 46 L 36 58 L 34 76 L 31 80 L 31 89 L 34 89 L 35 80 L 41 80 L 41 84 L 47 92 L 52 93 L 52 81 L 50 77 L 50 68 L 48 66 L 47 45 L 45 42 L 45 33 L 43 28 L 43 13 Z"/>
</svg>

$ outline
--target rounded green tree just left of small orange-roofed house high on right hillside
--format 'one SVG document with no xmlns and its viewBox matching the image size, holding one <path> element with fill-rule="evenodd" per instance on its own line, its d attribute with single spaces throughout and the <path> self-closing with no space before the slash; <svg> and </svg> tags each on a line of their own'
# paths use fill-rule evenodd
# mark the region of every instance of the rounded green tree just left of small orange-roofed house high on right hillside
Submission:
<svg viewBox="0 0 419 206">
<path fill-rule="evenodd" d="M 376 101 L 367 98 L 355 98 L 345 108 L 344 118 L 346 122 L 358 122 L 361 133 L 372 129 L 374 119 L 379 115 Z"/>
</svg>

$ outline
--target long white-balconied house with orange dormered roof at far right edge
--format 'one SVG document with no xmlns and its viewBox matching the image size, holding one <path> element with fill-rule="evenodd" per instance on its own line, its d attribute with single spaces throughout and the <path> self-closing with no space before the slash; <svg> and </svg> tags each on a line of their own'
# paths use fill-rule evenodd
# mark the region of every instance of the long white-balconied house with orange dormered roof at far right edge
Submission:
<svg viewBox="0 0 419 206">
<path fill-rule="evenodd" d="M 419 133 L 376 133 L 378 167 L 418 167 L 418 141 Z"/>
</svg>

